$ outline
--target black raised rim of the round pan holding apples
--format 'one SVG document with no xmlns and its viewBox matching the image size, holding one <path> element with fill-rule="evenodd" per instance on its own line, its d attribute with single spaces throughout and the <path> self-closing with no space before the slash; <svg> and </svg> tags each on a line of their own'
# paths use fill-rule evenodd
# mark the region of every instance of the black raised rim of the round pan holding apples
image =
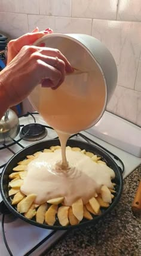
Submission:
<svg viewBox="0 0 141 256">
<path fill-rule="evenodd" d="M 122 188 L 123 188 L 123 178 L 122 178 L 122 173 L 121 171 L 119 170 L 119 167 L 117 165 L 117 163 L 115 163 L 114 159 L 112 159 L 111 156 L 109 156 L 108 153 L 106 153 L 104 150 L 102 150 L 101 148 L 97 147 L 96 145 L 93 145 L 93 144 L 88 144 L 87 142 L 83 142 L 83 141 L 79 141 L 79 140 L 76 140 L 76 139 L 69 139 L 68 140 L 68 143 L 72 142 L 72 143 L 78 143 L 79 144 L 82 144 L 84 145 L 84 149 L 85 149 L 85 145 L 87 147 L 91 147 L 93 148 L 93 150 L 90 149 L 90 151 L 93 151 L 94 150 L 97 150 L 97 151 L 100 151 L 100 153 L 102 153 L 102 155 L 104 155 L 105 157 L 107 157 L 114 165 L 115 165 L 115 168 L 117 169 L 116 172 L 118 172 L 118 176 L 119 176 L 119 188 L 118 188 L 118 191 L 117 191 L 117 196 L 115 197 L 114 199 L 114 202 L 111 203 L 111 205 L 105 209 L 104 212 L 102 212 L 102 215 L 97 215 L 96 217 L 93 218 L 93 220 L 86 220 L 86 221 L 82 221 L 82 223 L 79 223 L 77 225 L 68 225 L 68 226 L 61 226 L 61 225 L 48 225 L 48 224 L 40 224 L 40 223 L 37 223 L 36 221 L 34 220 L 29 220 L 27 219 L 26 217 L 24 217 L 24 215 L 20 214 L 19 212 L 16 211 L 15 208 L 13 208 L 13 206 L 8 202 L 8 199 L 7 197 L 5 196 L 5 193 L 4 193 L 4 188 L 3 188 L 3 183 L 4 183 L 4 175 L 5 175 L 5 172 L 8 168 L 8 165 L 13 161 L 13 159 L 15 159 L 18 155 L 21 155 L 21 153 L 23 153 L 24 151 L 26 150 L 29 150 L 30 148 L 33 148 L 33 146 L 36 146 L 38 147 L 38 145 L 40 144 L 48 144 L 50 142 L 56 142 L 56 145 L 60 144 L 59 142 L 59 139 L 50 139 L 50 140 L 45 140 L 45 141 L 40 141 L 40 142 L 36 142 L 32 145 L 29 145 L 28 147 L 20 150 L 19 152 L 17 152 L 13 157 L 11 157 L 11 159 L 8 161 L 8 163 L 6 164 L 6 166 L 4 167 L 4 169 L 2 170 L 2 173 L 1 173 L 1 184 L 0 184 L 0 188 L 1 188 L 1 195 L 2 195 L 2 199 L 4 200 L 4 203 L 5 205 L 7 206 L 8 209 L 10 209 L 10 211 L 16 215 L 18 218 L 22 219 L 23 221 L 26 221 L 26 223 L 29 223 L 29 224 L 32 224 L 32 225 L 35 225 L 37 227 L 41 227 L 41 228 L 45 228 L 45 229 L 50 229 L 50 230 L 72 230 L 72 229 L 75 229 L 75 228 L 81 228 L 81 227 L 84 227 L 85 225 L 90 225 L 90 224 L 96 224 L 99 220 L 102 220 L 102 218 L 104 218 L 108 213 L 110 213 L 114 208 L 115 206 L 118 204 L 119 202 L 119 199 L 121 197 L 121 194 L 122 194 Z M 44 147 L 45 148 L 45 147 Z M 43 148 L 42 148 L 43 149 Z M 41 149 L 41 150 L 42 150 Z M 21 157 L 22 158 L 22 157 Z M 114 170 L 115 172 L 115 170 Z"/>
</svg>

